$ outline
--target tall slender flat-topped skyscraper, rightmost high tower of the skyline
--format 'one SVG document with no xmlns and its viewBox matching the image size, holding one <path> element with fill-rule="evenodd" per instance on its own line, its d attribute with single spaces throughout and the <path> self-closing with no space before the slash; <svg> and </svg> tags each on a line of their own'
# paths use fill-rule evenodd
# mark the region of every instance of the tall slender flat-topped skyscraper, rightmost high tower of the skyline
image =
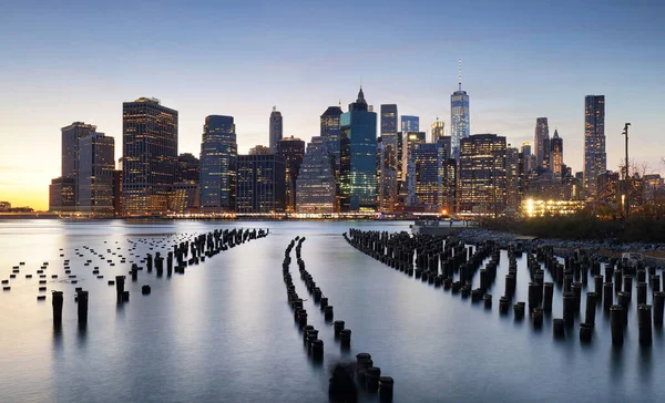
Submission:
<svg viewBox="0 0 665 403">
<path fill-rule="evenodd" d="M 597 176 L 607 169 L 605 155 L 605 95 L 584 99 L 584 187 L 596 196 Z"/>
</svg>

